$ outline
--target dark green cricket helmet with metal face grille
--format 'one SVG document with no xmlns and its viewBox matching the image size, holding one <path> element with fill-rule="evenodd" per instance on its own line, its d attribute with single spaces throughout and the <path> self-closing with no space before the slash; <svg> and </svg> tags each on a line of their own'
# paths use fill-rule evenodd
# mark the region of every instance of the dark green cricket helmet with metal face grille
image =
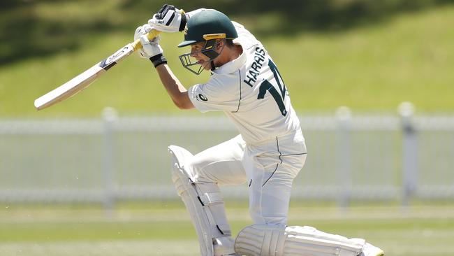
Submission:
<svg viewBox="0 0 454 256">
<path fill-rule="evenodd" d="M 217 52 L 216 45 L 221 41 L 226 39 L 235 39 L 238 37 L 237 31 L 230 19 L 224 14 L 217 10 L 202 10 L 199 13 L 193 15 L 184 28 L 184 41 L 178 45 L 178 47 L 184 47 L 188 45 L 193 45 L 194 43 L 205 42 L 204 47 L 200 50 L 200 53 L 207 56 L 211 62 L 211 69 L 214 70 L 213 59 L 219 56 L 222 49 Z M 203 63 L 198 62 L 196 59 L 191 57 L 191 54 L 196 52 L 186 53 L 180 55 L 180 61 L 183 66 L 189 71 L 196 73 L 197 75 L 203 71 Z M 200 65 L 198 69 L 195 65 Z"/>
</svg>

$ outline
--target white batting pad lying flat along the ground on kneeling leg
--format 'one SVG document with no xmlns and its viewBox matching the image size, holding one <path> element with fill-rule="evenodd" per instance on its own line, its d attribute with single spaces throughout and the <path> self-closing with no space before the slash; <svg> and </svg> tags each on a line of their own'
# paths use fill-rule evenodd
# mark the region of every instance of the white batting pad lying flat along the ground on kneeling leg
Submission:
<svg viewBox="0 0 454 256">
<path fill-rule="evenodd" d="M 356 256 L 364 246 L 363 239 L 347 239 L 307 226 L 251 225 L 235 241 L 235 251 L 248 256 Z"/>
</svg>

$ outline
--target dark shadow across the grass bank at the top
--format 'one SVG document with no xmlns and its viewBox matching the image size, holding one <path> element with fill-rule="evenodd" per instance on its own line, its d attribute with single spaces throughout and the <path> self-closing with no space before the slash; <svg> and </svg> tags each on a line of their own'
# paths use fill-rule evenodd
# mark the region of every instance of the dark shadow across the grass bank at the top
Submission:
<svg viewBox="0 0 454 256">
<path fill-rule="evenodd" d="M 88 6 L 107 3 L 108 0 L 85 2 Z M 3 0 L 0 2 L 0 66 L 32 57 L 52 55 L 62 50 L 77 50 L 82 41 L 94 34 L 111 31 L 132 31 L 146 22 L 154 10 L 166 1 L 119 0 L 112 10 L 99 8 L 73 19 L 61 20 L 43 17 L 36 11 L 40 5 L 54 13 L 69 0 Z M 151 2 L 151 3 L 150 3 Z M 397 13 L 424 10 L 433 6 L 454 3 L 453 0 L 302 0 L 291 1 L 208 1 L 175 0 L 175 6 L 185 10 L 217 8 L 230 17 L 240 17 L 254 25 L 251 31 L 267 36 L 293 36 L 300 31 L 345 31 L 353 27 L 384 22 Z M 238 7 L 240 6 L 240 8 Z M 83 12 L 82 12 L 83 13 Z M 267 15 L 272 20 L 267 20 Z M 120 19 L 121 18 L 121 19 Z M 118 20 L 121 20 L 118 22 Z M 259 20 L 259 22 L 254 22 Z M 70 36 L 68 36 L 70 35 Z"/>
</svg>

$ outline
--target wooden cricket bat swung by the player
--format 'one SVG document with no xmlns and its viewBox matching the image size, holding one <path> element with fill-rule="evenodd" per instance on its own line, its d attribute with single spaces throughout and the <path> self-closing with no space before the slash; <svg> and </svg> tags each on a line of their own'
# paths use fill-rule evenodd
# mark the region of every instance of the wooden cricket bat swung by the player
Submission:
<svg viewBox="0 0 454 256">
<path fill-rule="evenodd" d="M 148 32 L 147 36 L 151 41 L 153 38 L 158 36 L 160 31 L 152 29 Z M 142 44 L 140 43 L 140 39 L 133 41 L 132 43 L 128 43 L 124 45 L 124 47 L 120 48 L 114 54 L 110 55 L 106 59 L 103 59 L 98 64 L 92 66 L 91 68 L 87 69 L 80 75 L 76 76 L 75 78 L 69 80 L 68 82 L 60 85 L 59 87 L 55 88 L 54 90 L 47 92 L 43 96 L 39 97 L 35 100 L 35 108 L 36 110 L 41 110 L 43 108 L 50 107 L 54 104 L 57 104 L 64 99 L 68 99 L 69 97 L 73 97 L 78 92 L 87 88 L 91 83 L 93 83 L 99 76 L 103 73 L 108 71 L 112 66 L 115 66 L 118 62 L 122 59 L 125 59 L 131 53 L 135 52 L 142 48 Z"/>
</svg>

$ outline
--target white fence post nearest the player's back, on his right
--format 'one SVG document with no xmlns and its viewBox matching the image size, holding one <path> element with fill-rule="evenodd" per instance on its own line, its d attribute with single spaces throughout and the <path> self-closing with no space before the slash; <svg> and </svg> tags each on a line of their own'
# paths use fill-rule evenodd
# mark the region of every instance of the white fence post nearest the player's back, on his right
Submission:
<svg viewBox="0 0 454 256">
<path fill-rule="evenodd" d="M 335 161 L 337 167 L 337 204 L 346 211 L 351 199 L 351 110 L 346 106 L 337 108 L 337 132 Z"/>
</svg>

